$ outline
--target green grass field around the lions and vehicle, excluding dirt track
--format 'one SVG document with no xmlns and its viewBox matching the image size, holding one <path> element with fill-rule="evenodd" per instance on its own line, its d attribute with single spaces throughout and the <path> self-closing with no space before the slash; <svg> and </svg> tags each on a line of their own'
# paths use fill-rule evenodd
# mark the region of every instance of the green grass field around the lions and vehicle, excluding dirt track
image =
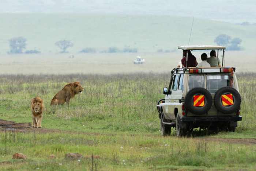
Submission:
<svg viewBox="0 0 256 171">
<path fill-rule="evenodd" d="M 42 127 L 48 131 L 0 133 L 1 170 L 91 170 L 91 154 L 98 170 L 255 170 L 256 146 L 245 138 L 255 138 L 255 73 L 237 74 L 242 96 L 241 115 L 234 133 L 177 138 L 159 133 L 156 102 L 169 74 L 70 74 L 1 75 L 0 117 L 31 122 L 30 100 L 44 99 Z M 68 82 L 80 81 L 85 92 L 59 106 L 53 114 L 50 100 Z M 42 129 L 43 129 L 42 128 Z M 41 130 L 42 130 L 41 129 Z M 37 129 L 38 130 L 38 129 Z M 59 131 L 58 131 L 59 130 Z M 211 140 L 209 140 L 211 138 Z M 219 138 L 244 139 L 227 143 Z M 21 152 L 27 160 L 12 160 Z M 66 160 L 65 154 L 78 152 L 84 159 Z M 49 159 L 49 155 L 56 159 Z"/>
</svg>

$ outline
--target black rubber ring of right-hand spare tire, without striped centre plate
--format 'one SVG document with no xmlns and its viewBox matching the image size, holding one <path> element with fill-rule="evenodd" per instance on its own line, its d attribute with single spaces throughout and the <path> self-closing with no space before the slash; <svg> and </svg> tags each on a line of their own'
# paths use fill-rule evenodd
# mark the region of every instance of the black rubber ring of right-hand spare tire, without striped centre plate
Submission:
<svg viewBox="0 0 256 171">
<path fill-rule="evenodd" d="M 223 106 L 222 105 L 222 95 L 224 94 L 232 94 L 233 96 L 233 105 L 230 106 Z M 241 105 L 241 96 L 238 93 L 238 91 L 232 87 L 223 87 L 221 89 L 219 89 L 214 96 L 214 105 L 215 108 L 221 112 L 221 113 L 225 113 L 225 114 L 231 114 L 234 112 L 237 112 L 240 109 L 240 105 Z"/>
</svg>

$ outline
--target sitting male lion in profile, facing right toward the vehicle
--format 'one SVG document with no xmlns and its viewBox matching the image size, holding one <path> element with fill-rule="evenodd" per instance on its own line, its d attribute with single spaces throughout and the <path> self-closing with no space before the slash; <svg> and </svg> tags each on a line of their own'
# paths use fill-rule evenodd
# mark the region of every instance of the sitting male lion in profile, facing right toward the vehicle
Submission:
<svg viewBox="0 0 256 171">
<path fill-rule="evenodd" d="M 80 82 L 69 83 L 53 97 L 50 105 L 63 105 L 67 102 L 69 106 L 70 99 L 74 98 L 78 93 L 81 94 L 83 90 L 84 88 L 80 85 Z"/>
</svg>

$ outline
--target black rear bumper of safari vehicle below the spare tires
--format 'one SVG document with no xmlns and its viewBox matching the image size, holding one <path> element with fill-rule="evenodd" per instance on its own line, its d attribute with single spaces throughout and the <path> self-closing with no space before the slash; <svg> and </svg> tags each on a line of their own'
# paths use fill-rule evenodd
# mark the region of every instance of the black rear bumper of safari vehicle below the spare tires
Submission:
<svg viewBox="0 0 256 171">
<path fill-rule="evenodd" d="M 206 116 L 206 117 L 182 117 L 183 122 L 221 122 L 241 121 L 242 116 Z"/>
</svg>

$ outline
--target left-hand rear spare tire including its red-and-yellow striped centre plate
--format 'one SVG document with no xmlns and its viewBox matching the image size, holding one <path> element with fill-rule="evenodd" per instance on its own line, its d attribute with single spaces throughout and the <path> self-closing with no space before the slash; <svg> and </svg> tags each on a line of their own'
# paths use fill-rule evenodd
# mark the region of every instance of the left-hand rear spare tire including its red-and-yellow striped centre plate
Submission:
<svg viewBox="0 0 256 171">
<path fill-rule="evenodd" d="M 211 109 L 211 93 L 205 88 L 193 88 L 187 93 L 184 105 L 193 114 L 204 114 Z"/>
</svg>

